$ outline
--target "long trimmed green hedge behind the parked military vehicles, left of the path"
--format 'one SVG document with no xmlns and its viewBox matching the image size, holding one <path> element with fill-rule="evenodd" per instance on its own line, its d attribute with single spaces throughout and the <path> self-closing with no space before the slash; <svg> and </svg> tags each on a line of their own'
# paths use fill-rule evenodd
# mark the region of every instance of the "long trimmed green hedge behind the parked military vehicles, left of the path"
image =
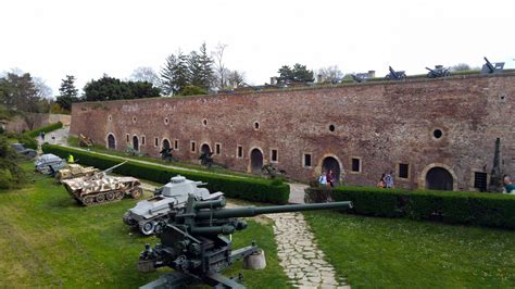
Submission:
<svg viewBox="0 0 515 289">
<path fill-rule="evenodd" d="M 72 153 L 78 163 L 91 165 L 101 169 L 109 168 L 122 162 L 117 158 L 93 154 L 91 152 L 48 143 L 42 146 L 42 151 L 45 153 L 53 153 L 64 159 L 67 158 L 68 153 Z M 134 161 L 128 161 L 124 165 L 118 166 L 114 169 L 114 173 L 148 179 L 160 184 L 166 184 L 169 181 L 171 177 L 181 175 L 188 179 L 208 183 L 206 188 L 211 192 L 222 191 L 229 198 L 248 201 L 285 204 L 288 202 L 290 196 L 289 185 L 282 181 L 189 172 L 152 164 L 141 164 Z"/>
</svg>

